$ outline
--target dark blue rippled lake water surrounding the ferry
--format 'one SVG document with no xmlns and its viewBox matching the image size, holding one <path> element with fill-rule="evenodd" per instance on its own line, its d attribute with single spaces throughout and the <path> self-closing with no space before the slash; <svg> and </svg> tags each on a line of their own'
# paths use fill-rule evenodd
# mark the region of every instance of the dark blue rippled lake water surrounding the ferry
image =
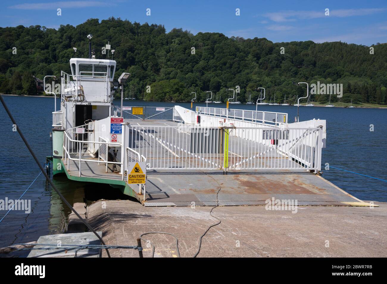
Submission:
<svg viewBox="0 0 387 284">
<path fill-rule="evenodd" d="M 18 126 L 43 164 L 51 154 L 52 116 L 54 99 L 48 97 L 3 96 Z M 173 106 L 190 108 L 189 103 L 143 102 L 125 100 L 124 105 Z M 57 101 L 59 105 L 59 99 Z M 120 105 L 115 100 L 115 105 Z M 194 104 L 205 106 L 205 104 Z M 209 104 L 225 108 L 226 104 Z M 233 109 L 252 109 L 255 105 L 230 105 Z M 294 106 L 261 105 L 260 111 L 286 112 L 288 121 L 294 121 Z M 320 118 L 327 121 L 327 148 L 322 151 L 322 163 L 332 167 L 387 179 L 387 109 L 337 107 L 300 107 L 300 121 Z M 374 131 L 370 131 L 373 124 Z M 18 199 L 39 174 L 39 168 L 0 105 L 0 199 Z M 330 168 L 323 169 L 323 177 L 338 187 L 365 201 L 387 202 L 387 182 Z M 95 190 L 95 184 L 72 182 L 55 177 L 55 185 L 70 204 Z M 104 188 L 98 189 L 101 194 Z M 112 188 L 109 187 L 111 191 Z M 100 198 L 99 197 L 96 198 Z M 31 199 L 31 213 L 11 211 L 0 223 L 0 247 L 35 241 L 41 235 L 62 233 L 70 210 L 51 189 L 43 175 L 36 180 L 23 199 Z M 106 197 L 108 199 L 108 197 Z M 122 199 L 122 198 L 121 198 Z M 7 211 L 0 211 L 0 219 Z M 26 255 L 19 253 L 16 255 Z"/>
</svg>

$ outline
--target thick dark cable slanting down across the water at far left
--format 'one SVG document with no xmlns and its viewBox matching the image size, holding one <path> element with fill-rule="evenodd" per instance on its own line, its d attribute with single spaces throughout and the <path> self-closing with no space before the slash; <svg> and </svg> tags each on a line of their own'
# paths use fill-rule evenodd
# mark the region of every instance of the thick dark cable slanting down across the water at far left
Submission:
<svg viewBox="0 0 387 284">
<path fill-rule="evenodd" d="M 7 105 L 5 104 L 4 100 L 3 100 L 3 96 L 0 95 L 0 100 L 3 104 L 3 107 L 5 109 L 5 111 L 7 112 L 9 118 L 11 119 L 11 121 L 16 125 L 16 129 L 17 129 L 17 132 L 19 133 L 20 137 L 23 139 L 24 141 L 24 144 L 26 144 L 28 150 L 30 151 L 31 155 L 34 157 L 34 160 L 35 162 L 38 164 L 40 170 L 43 172 L 43 175 L 45 175 L 47 181 L 50 183 L 51 187 L 57 192 L 58 196 L 63 200 L 63 202 L 65 202 L 65 204 L 71 209 L 71 211 L 74 212 L 74 214 L 82 221 L 82 223 L 84 223 L 86 225 L 87 228 L 89 228 L 89 230 L 91 230 L 97 237 L 98 239 L 101 241 L 101 243 L 103 245 L 106 245 L 105 242 L 102 240 L 101 236 L 98 235 L 98 233 L 89 225 L 89 223 L 87 223 L 79 214 L 77 211 L 74 210 L 74 208 L 70 205 L 70 203 L 68 203 L 68 201 L 65 199 L 65 197 L 63 197 L 63 195 L 59 192 L 59 190 L 55 187 L 55 185 L 53 184 L 52 180 L 50 179 L 50 177 L 45 173 L 45 170 L 44 168 L 41 166 L 41 164 L 39 163 L 39 160 L 38 158 L 36 157 L 34 151 L 31 149 L 31 147 L 29 146 L 26 138 L 24 137 L 21 129 L 19 128 L 19 126 L 17 125 L 14 117 L 12 116 L 11 112 L 9 111 Z M 106 249 L 106 253 L 108 254 L 108 257 L 110 257 L 110 253 L 109 253 L 109 250 L 108 248 L 105 248 Z"/>
</svg>

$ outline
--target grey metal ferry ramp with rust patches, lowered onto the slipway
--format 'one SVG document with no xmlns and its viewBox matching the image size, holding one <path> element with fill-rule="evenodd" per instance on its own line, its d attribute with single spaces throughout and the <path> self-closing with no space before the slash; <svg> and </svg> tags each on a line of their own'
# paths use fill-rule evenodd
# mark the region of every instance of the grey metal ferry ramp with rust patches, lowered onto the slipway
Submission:
<svg viewBox="0 0 387 284">
<path fill-rule="evenodd" d="M 219 194 L 217 191 L 220 189 Z M 145 206 L 264 205 L 267 199 L 297 200 L 298 205 L 345 206 L 359 202 L 313 173 L 279 170 L 228 172 L 148 172 Z M 193 203 L 192 203 L 193 202 Z"/>
</svg>

